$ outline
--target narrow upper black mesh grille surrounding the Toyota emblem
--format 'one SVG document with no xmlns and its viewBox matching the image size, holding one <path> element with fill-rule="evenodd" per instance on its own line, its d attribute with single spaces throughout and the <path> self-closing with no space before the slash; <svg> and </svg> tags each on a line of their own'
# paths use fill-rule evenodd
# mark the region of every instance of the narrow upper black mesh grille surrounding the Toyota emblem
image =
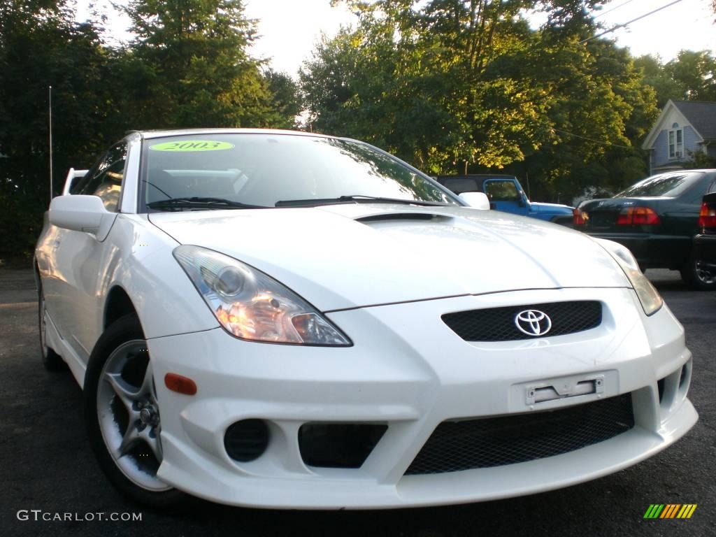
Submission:
<svg viewBox="0 0 716 537">
<path fill-rule="evenodd" d="M 543 336 L 523 334 L 515 324 L 521 311 L 535 309 L 549 316 L 552 327 Z M 601 302 L 572 301 L 507 306 L 503 308 L 473 309 L 442 316 L 450 329 L 468 342 L 509 342 L 516 339 L 563 336 L 574 334 L 601 324 Z M 542 324 L 544 327 L 544 323 Z"/>
</svg>

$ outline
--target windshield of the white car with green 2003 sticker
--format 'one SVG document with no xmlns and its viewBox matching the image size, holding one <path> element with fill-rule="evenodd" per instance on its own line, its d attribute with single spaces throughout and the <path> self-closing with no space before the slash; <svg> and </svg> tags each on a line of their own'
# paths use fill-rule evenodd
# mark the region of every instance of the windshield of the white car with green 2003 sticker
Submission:
<svg viewBox="0 0 716 537">
<path fill-rule="evenodd" d="M 276 133 L 145 140 L 140 192 L 140 211 L 353 203 L 361 196 L 460 205 L 367 144 Z"/>
</svg>

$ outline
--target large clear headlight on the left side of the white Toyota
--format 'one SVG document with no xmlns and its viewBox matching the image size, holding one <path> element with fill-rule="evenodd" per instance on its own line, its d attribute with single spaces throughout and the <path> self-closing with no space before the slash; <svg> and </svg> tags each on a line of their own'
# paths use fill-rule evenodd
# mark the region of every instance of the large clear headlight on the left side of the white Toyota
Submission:
<svg viewBox="0 0 716 537">
<path fill-rule="evenodd" d="M 229 333 L 256 342 L 352 343 L 319 311 L 278 281 L 222 253 L 178 246 L 174 257 Z"/>
</svg>

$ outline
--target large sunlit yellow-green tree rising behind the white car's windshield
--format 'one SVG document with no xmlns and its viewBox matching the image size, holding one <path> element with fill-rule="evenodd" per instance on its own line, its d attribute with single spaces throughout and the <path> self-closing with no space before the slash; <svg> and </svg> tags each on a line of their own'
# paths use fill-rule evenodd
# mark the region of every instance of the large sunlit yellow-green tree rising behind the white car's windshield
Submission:
<svg viewBox="0 0 716 537">
<path fill-rule="evenodd" d="M 349 4 L 357 29 L 324 39 L 301 71 L 314 129 L 367 138 L 432 171 L 505 165 L 541 143 L 548 96 L 518 71 L 538 54 L 523 13 L 543 3 Z M 586 4 L 551 3 L 555 29 Z"/>
</svg>

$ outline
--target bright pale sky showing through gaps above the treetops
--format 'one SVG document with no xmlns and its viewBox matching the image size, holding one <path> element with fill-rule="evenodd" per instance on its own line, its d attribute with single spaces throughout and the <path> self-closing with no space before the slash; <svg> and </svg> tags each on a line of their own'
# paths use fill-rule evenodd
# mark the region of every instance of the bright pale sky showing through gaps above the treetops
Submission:
<svg viewBox="0 0 716 537">
<path fill-rule="evenodd" d="M 122 3 L 123 0 L 115 0 Z M 612 0 L 599 11 L 597 21 L 611 28 L 649 13 L 674 0 Z M 128 39 L 129 21 L 112 11 L 110 0 L 77 0 L 77 19 L 87 19 L 90 2 L 110 14 L 110 41 Z M 668 62 L 681 49 L 710 50 L 716 54 L 715 15 L 710 0 L 681 0 L 644 19 L 616 30 L 605 37 L 616 39 L 620 47 L 629 47 L 632 54 L 659 55 Z M 330 0 L 248 0 L 246 15 L 258 19 L 258 41 L 253 56 L 270 60 L 276 71 L 295 75 L 301 63 L 311 57 L 321 32 L 333 36 L 342 24 L 350 24 L 354 16 L 345 6 L 330 6 Z M 534 21 L 538 24 L 538 21 Z"/>
</svg>

